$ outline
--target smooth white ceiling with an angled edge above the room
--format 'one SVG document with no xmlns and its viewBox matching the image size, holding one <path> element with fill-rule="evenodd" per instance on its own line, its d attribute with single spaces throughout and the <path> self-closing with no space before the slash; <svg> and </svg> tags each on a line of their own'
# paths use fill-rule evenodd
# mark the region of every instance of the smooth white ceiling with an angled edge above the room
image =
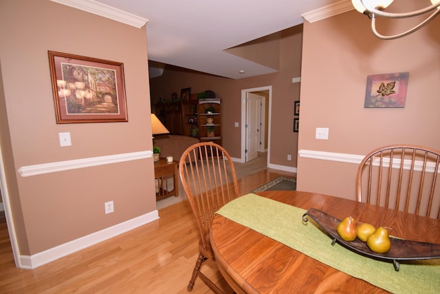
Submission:
<svg viewBox="0 0 440 294">
<path fill-rule="evenodd" d="M 276 70 L 224 50 L 303 23 L 306 12 L 311 12 L 307 19 L 314 21 L 353 8 L 350 0 L 52 1 L 104 17 L 109 16 L 97 11 L 101 10 L 97 8 L 100 4 L 106 9 L 110 6 L 129 12 L 128 18 L 140 17 L 140 25 L 135 26 L 142 27 L 142 22 L 146 22 L 149 60 L 228 78 Z M 240 70 L 245 73 L 239 74 Z"/>
</svg>

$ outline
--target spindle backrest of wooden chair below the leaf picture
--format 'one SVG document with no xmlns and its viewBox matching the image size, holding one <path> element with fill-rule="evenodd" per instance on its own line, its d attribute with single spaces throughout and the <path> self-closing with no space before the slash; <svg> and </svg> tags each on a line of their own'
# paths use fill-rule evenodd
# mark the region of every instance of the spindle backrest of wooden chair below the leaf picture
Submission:
<svg viewBox="0 0 440 294">
<path fill-rule="evenodd" d="M 419 145 L 375 149 L 358 168 L 358 201 L 440 219 L 439 162 L 439 150 Z"/>
</svg>

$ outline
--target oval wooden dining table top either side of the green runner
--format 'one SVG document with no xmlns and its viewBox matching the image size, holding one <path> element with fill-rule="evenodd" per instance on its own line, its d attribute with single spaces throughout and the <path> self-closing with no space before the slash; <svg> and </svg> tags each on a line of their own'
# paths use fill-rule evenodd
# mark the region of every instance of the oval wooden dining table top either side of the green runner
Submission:
<svg viewBox="0 0 440 294">
<path fill-rule="evenodd" d="M 340 220 L 353 216 L 380 224 L 405 240 L 440 244 L 440 220 L 318 193 L 256 194 L 306 211 L 319 209 Z M 387 293 L 220 214 L 214 216 L 210 242 L 221 274 L 236 293 Z"/>
</svg>

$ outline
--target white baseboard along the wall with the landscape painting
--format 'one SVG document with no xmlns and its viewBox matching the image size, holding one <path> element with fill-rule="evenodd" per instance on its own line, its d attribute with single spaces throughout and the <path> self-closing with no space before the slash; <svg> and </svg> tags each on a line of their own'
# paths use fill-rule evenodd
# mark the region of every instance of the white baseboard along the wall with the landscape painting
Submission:
<svg viewBox="0 0 440 294">
<path fill-rule="evenodd" d="M 63 258 L 66 255 L 80 251 L 81 249 L 85 249 L 104 240 L 108 240 L 116 235 L 120 235 L 144 224 L 148 224 L 148 222 L 153 222 L 153 220 L 157 220 L 158 218 L 159 213 L 157 210 L 151 211 L 143 216 L 138 216 L 137 218 L 121 222 L 120 224 L 115 224 L 113 227 L 91 233 L 90 235 L 72 240 L 40 253 L 34 255 L 20 255 L 19 268 L 35 269 L 43 264 L 57 260 L 58 258 Z"/>
</svg>

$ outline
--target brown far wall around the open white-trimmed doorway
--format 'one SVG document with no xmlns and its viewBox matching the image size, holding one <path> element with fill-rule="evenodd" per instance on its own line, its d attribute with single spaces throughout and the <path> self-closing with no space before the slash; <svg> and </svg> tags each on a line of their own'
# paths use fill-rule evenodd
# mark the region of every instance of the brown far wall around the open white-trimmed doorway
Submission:
<svg viewBox="0 0 440 294">
<path fill-rule="evenodd" d="M 293 132 L 293 121 L 294 101 L 299 100 L 300 84 L 292 83 L 292 78 L 300 76 L 302 29 L 299 25 L 277 34 L 281 36 L 278 46 L 280 71 L 275 74 L 232 80 L 179 68 L 170 70 L 167 66 L 162 76 L 151 79 L 151 98 L 153 101 L 160 96 L 170 99 L 171 93 L 180 93 L 186 87 L 191 87 L 192 93 L 214 91 L 223 103 L 223 146 L 232 157 L 240 158 L 241 129 L 234 127 L 234 122 L 241 122 L 241 90 L 272 85 L 270 163 L 296 167 L 298 133 Z M 272 38 L 268 40 L 272 48 L 276 47 Z M 254 43 L 251 48 L 255 50 Z M 291 161 L 287 160 L 287 154 L 292 154 Z"/>
</svg>

